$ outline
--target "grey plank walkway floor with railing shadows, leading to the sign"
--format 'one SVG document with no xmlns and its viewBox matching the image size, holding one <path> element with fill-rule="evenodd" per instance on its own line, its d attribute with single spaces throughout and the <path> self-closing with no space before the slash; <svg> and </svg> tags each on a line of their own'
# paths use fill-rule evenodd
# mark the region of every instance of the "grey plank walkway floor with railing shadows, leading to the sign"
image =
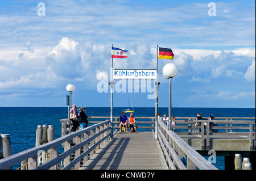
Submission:
<svg viewBox="0 0 256 181">
<path fill-rule="evenodd" d="M 117 133 L 80 170 L 168 170 L 153 132 Z"/>
</svg>

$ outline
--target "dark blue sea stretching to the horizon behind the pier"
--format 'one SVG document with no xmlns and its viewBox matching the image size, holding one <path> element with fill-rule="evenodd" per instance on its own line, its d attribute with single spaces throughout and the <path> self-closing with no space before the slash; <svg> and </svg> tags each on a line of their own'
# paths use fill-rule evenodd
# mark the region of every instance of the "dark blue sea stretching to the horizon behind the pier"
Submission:
<svg viewBox="0 0 256 181">
<path fill-rule="evenodd" d="M 88 116 L 110 116 L 110 107 L 86 107 Z M 114 107 L 113 116 L 120 116 L 125 108 Z M 134 107 L 134 116 L 155 116 L 154 107 Z M 168 115 L 167 107 L 159 107 L 161 115 Z M 172 108 L 175 117 L 255 117 L 255 108 Z M 54 125 L 55 139 L 61 137 L 61 119 L 68 117 L 68 107 L 0 107 L 0 133 L 10 134 L 12 154 L 35 146 L 38 125 Z M 90 124 L 89 124 L 90 125 Z M 224 170 L 224 157 L 217 157 L 213 164 Z M 13 166 L 13 169 L 18 165 Z"/>
</svg>

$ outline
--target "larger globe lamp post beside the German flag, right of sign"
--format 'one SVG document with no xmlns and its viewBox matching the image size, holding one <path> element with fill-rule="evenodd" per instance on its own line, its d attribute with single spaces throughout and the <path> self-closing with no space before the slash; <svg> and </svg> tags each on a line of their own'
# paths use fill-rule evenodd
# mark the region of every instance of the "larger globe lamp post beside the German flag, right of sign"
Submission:
<svg viewBox="0 0 256 181">
<path fill-rule="evenodd" d="M 169 79 L 169 130 L 171 130 L 171 113 L 172 113 L 172 78 L 177 75 L 177 66 L 175 64 L 169 63 L 164 65 L 163 75 Z"/>
</svg>

